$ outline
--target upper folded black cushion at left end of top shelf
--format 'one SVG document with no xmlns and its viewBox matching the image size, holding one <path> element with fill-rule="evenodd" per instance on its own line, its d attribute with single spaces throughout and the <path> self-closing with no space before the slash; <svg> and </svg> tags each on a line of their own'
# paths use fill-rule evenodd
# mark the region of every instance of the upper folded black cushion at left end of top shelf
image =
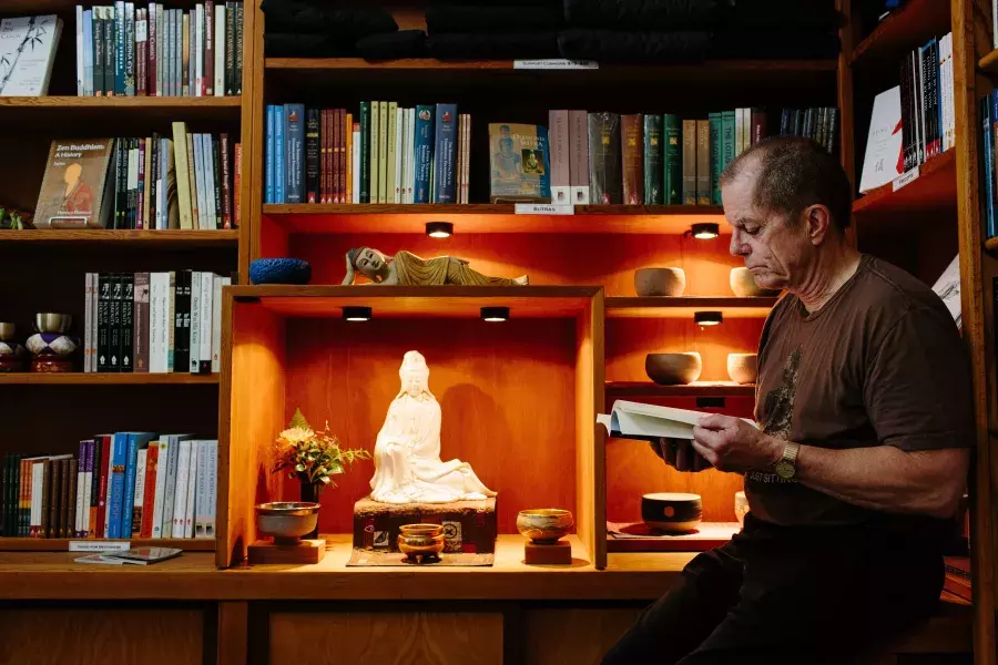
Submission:
<svg viewBox="0 0 998 665">
<path fill-rule="evenodd" d="M 267 32 L 328 34 L 357 40 L 368 34 L 395 32 L 398 23 L 379 8 L 334 8 L 306 0 L 263 0 Z"/>
</svg>

